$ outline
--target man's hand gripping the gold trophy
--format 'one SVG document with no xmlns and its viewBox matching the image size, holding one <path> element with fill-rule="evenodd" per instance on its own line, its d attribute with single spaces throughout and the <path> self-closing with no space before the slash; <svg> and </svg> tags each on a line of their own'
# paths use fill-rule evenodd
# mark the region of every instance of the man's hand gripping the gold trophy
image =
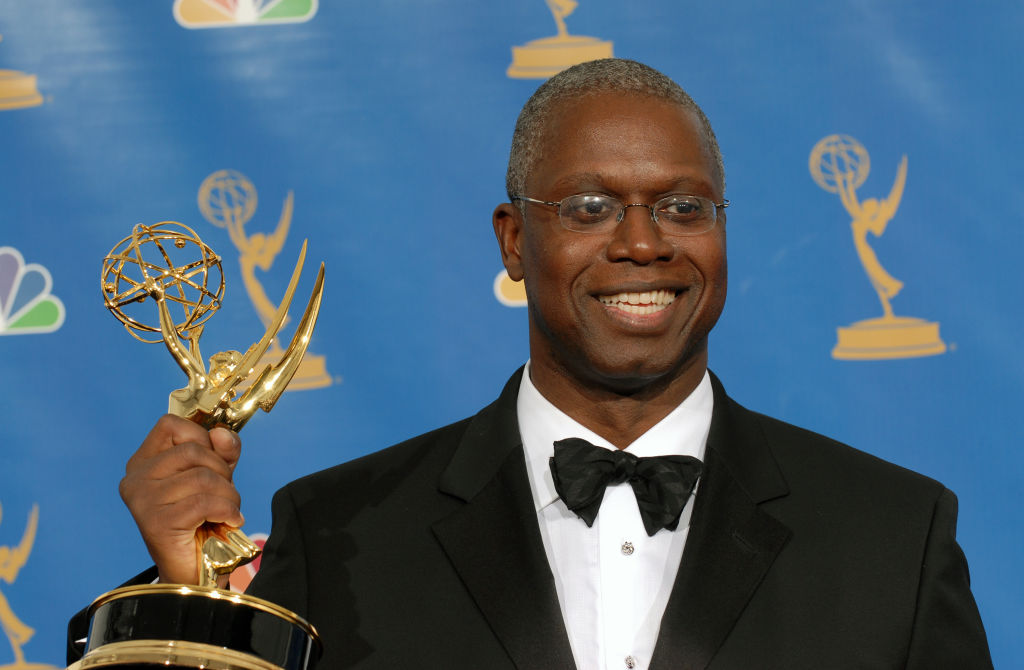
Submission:
<svg viewBox="0 0 1024 670">
<path fill-rule="evenodd" d="M 242 452 L 238 433 L 207 431 L 171 414 L 161 417 L 121 479 L 128 505 L 160 581 L 197 584 L 196 529 L 204 521 L 241 527 L 242 499 L 231 483 Z"/>
</svg>

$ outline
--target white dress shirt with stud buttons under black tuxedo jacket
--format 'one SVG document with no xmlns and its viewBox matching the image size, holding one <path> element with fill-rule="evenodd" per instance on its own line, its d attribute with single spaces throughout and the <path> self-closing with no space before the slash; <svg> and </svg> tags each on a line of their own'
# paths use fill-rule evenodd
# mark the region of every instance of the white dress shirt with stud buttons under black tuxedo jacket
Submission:
<svg viewBox="0 0 1024 670">
<path fill-rule="evenodd" d="M 705 373 L 696 389 L 627 451 L 636 456 L 679 454 L 703 461 L 714 396 Z M 665 605 L 689 531 L 693 498 L 675 531 L 648 537 L 629 483 L 608 487 L 593 528 L 562 503 L 551 477 L 554 443 L 582 437 L 614 449 L 549 403 L 523 373 L 519 432 L 544 549 L 580 670 L 650 666 Z"/>
</svg>

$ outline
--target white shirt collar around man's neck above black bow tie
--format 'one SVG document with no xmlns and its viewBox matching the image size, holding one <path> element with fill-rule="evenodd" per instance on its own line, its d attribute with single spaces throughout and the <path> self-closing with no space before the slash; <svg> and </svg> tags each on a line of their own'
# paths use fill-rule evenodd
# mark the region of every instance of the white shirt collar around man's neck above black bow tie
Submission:
<svg viewBox="0 0 1024 670">
<path fill-rule="evenodd" d="M 637 437 L 626 451 L 637 456 L 678 454 L 693 456 L 702 461 L 711 429 L 714 397 L 711 377 L 705 371 L 703 378 L 693 392 L 668 416 Z M 586 428 L 541 395 L 529 379 L 528 362 L 522 373 L 516 410 L 519 434 L 526 455 L 526 472 L 537 511 L 558 500 L 549 465 L 556 441 L 582 437 L 598 447 L 615 449 L 607 439 Z"/>
</svg>

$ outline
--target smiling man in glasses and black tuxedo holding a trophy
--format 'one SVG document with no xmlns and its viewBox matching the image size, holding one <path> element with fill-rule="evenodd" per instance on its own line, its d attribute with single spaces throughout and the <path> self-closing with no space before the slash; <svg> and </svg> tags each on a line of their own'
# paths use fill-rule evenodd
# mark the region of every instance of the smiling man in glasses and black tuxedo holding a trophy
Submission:
<svg viewBox="0 0 1024 670">
<path fill-rule="evenodd" d="M 525 373 L 470 419 L 274 497 L 250 591 L 318 627 L 322 667 L 991 667 L 952 494 L 709 374 L 724 181 L 702 112 L 645 66 L 584 64 L 535 93 L 494 213 L 528 297 Z M 165 417 L 132 457 L 122 495 L 162 580 L 195 580 L 201 521 L 241 524 L 238 454 Z M 570 502 L 573 459 L 610 464 L 597 503 Z M 649 467 L 677 478 L 657 489 Z"/>
</svg>

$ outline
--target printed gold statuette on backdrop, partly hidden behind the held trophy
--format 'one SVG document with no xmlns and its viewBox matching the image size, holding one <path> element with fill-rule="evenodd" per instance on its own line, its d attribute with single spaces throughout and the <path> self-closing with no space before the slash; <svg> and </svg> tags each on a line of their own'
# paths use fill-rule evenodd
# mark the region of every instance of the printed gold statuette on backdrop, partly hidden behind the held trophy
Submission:
<svg viewBox="0 0 1024 670">
<path fill-rule="evenodd" d="M 294 195 L 288 192 L 273 233 L 246 235 L 246 224 L 256 213 L 257 205 L 256 187 L 252 181 L 236 170 L 218 170 L 204 179 L 199 187 L 199 209 L 207 221 L 227 228 L 227 235 L 239 251 L 242 281 L 264 326 L 273 320 L 278 305 L 267 297 L 263 285 L 256 278 L 256 269 L 265 273 L 273 266 L 292 225 L 293 203 Z M 288 323 L 287 319 L 285 323 Z M 281 345 L 274 339 L 260 365 L 276 361 L 281 354 Z M 288 390 L 322 388 L 330 386 L 332 381 L 327 372 L 326 357 L 307 352 Z"/>
</svg>

